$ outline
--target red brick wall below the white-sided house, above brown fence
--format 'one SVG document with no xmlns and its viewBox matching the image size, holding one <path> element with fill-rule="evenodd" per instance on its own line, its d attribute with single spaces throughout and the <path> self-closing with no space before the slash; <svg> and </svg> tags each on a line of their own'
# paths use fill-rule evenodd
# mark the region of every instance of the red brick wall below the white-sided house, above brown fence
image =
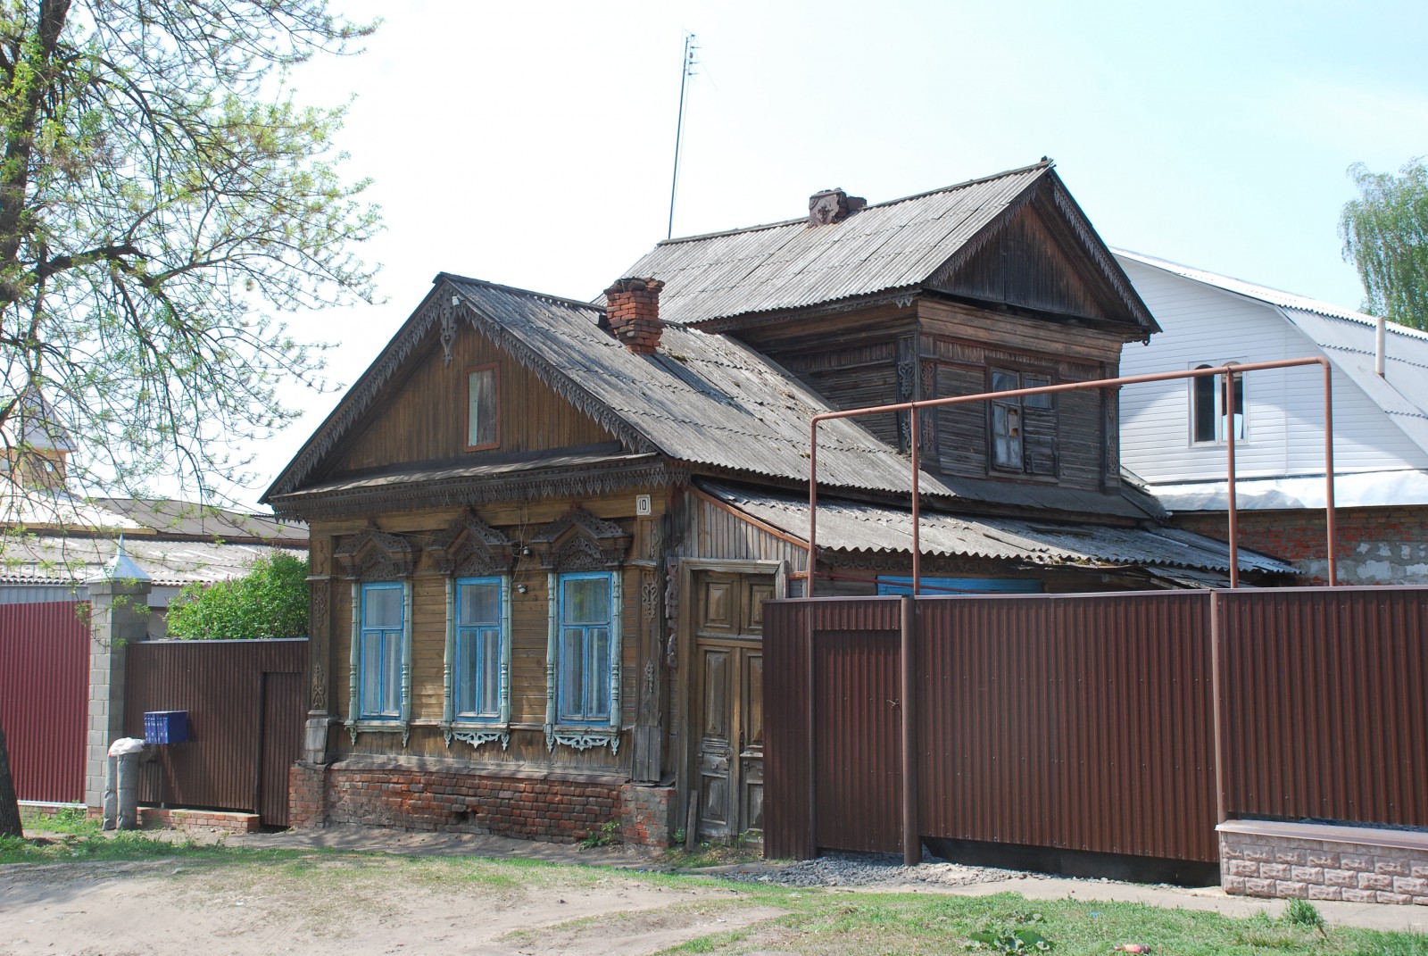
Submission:
<svg viewBox="0 0 1428 956">
<path fill-rule="evenodd" d="M 1345 507 L 1335 513 L 1341 584 L 1428 584 L 1428 506 Z M 1190 532 L 1228 540 L 1224 512 L 1175 514 Z M 1240 543 L 1288 560 L 1298 584 L 1327 584 L 1324 512 L 1240 512 Z"/>
</svg>

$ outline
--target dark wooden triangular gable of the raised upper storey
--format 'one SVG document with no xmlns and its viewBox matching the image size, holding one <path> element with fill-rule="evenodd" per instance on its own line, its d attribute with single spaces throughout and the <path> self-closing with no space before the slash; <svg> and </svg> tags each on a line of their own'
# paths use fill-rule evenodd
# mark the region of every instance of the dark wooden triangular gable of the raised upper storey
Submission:
<svg viewBox="0 0 1428 956">
<path fill-rule="evenodd" d="M 1142 339 L 1145 330 L 1084 239 L 1045 194 L 995 224 L 982 243 L 954 257 L 927 286 L 964 299 L 1121 324 L 1125 340 Z"/>
</svg>

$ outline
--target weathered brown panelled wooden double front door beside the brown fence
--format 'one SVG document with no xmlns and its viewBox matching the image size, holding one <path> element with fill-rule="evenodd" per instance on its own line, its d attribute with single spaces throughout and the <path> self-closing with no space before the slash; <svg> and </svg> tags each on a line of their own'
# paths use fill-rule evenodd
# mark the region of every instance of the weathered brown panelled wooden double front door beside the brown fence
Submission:
<svg viewBox="0 0 1428 956">
<path fill-rule="evenodd" d="M 694 799 L 703 839 L 763 840 L 764 604 L 771 574 L 694 577 Z"/>
</svg>

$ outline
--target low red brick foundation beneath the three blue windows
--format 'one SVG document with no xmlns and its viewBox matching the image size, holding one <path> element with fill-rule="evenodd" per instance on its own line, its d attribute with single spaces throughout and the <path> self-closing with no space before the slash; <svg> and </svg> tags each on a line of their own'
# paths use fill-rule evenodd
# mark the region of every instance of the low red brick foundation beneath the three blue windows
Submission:
<svg viewBox="0 0 1428 956">
<path fill-rule="evenodd" d="M 288 773 L 288 822 L 500 833 L 571 843 L 615 823 L 625 843 L 668 846 L 674 787 L 561 773 L 431 770 L 300 762 Z"/>
</svg>

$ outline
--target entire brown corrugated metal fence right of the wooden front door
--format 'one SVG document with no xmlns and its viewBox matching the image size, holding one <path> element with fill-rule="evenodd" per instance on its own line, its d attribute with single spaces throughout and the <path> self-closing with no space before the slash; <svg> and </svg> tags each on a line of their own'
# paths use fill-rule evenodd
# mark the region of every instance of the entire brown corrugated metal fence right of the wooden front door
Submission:
<svg viewBox="0 0 1428 956">
<path fill-rule="evenodd" d="M 1214 862 L 1222 816 L 1428 825 L 1428 589 L 922 597 L 917 622 L 920 836 Z M 897 599 L 767 606 L 771 856 L 900 849 L 895 629 Z"/>
</svg>

